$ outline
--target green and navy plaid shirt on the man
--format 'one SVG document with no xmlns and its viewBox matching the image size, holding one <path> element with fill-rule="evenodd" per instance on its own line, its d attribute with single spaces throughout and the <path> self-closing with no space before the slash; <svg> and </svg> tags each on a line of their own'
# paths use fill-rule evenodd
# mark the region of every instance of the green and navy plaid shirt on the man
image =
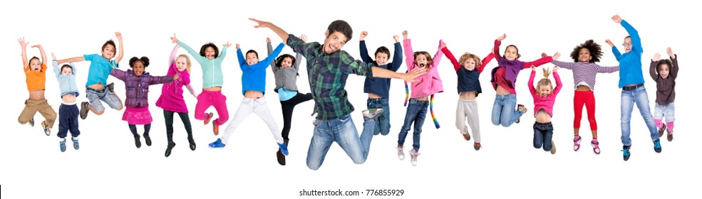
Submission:
<svg viewBox="0 0 702 199">
<path fill-rule="evenodd" d="M 353 112 L 353 105 L 344 90 L 346 78 L 349 74 L 373 77 L 372 64 L 354 60 L 344 50 L 324 53 L 322 45 L 318 42 L 304 43 L 292 34 L 289 35 L 287 44 L 307 60 L 307 75 L 314 97 L 316 118 L 337 119 Z"/>
</svg>

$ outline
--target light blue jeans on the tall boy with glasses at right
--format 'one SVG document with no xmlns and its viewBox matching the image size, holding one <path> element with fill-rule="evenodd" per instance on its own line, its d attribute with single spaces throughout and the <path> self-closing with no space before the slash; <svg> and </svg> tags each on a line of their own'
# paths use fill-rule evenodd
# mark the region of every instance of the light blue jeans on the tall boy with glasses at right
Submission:
<svg viewBox="0 0 702 199">
<path fill-rule="evenodd" d="M 644 117 L 646 127 L 649 128 L 651 141 L 658 139 L 658 130 L 656 122 L 651 115 L 651 107 L 649 106 L 649 95 L 646 94 L 645 87 L 638 87 L 634 90 L 621 90 L 621 144 L 631 146 L 631 112 L 634 110 L 634 103 L 641 112 L 641 117 Z"/>
</svg>

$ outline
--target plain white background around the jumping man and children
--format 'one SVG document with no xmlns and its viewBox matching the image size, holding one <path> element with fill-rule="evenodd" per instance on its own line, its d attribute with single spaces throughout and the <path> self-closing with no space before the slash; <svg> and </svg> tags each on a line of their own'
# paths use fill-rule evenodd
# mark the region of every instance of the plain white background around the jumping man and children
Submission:
<svg viewBox="0 0 702 199">
<path fill-rule="evenodd" d="M 460 2 L 460 3 L 459 3 Z M 696 90 L 696 33 L 698 11 L 691 3 L 656 1 L 421 1 L 401 3 L 386 1 L 4 1 L 0 3 L 0 60 L 4 61 L 4 109 L 0 121 L 0 184 L 2 198 L 319 198 L 299 196 L 301 190 L 402 189 L 403 196 L 362 196 L 358 198 L 696 198 L 701 139 L 694 123 L 699 108 L 691 98 Z M 53 134 L 43 134 L 37 114 L 36 126 L 16 122 L 27 98 L 25 77 L 21 72 L 17 38 L 25 37 L 30 45 L 42 44 L 49 59 L 99 53 L 108 39 L 123 33 L 125 56 L 120 69 L 128 68 L 133 56 L 148 56 L 152 62 L 148 72 L 165 75 L 167 58 L 173 47 L 169 37 L 178 38 L 199 49 L 207 42 L 217 45 L 229 41 L 240 43 L 243 50 L 254 49 L 265 57 L 265 38 L 274 43 L 280 38 L 268 29 L 255 29 L 247 18 L 272 21 L 289 33 L 307 34 L 309 41 L 324 40 L 326 26 L 344 19 L 353 27 L 353 38 L 342 48 L 358 57 L 358 35 L 368 31 L 366 43 L 373 53 L 378 46 L 392 48 L 393 35 L 409 31 L 414 50 L 433 54 L 439 39 L 444 39 L 457 57 L 465 51 L 485 56 L 502 33 L 503 41 L 520 49 L 523 61 L 540 58 L 542 52 L 562 53 L 559 60 L 572 61 L 569 53 L 587 39 L 604 46 L 600 65 L 618 65 L 604 40 L 609 38 L 623 51 L 626 31 L 611 21 L 619 14 L 641 35 L 644 48 L 642 70 L 649 93 L 651 111 L 655 100 L 655 83 L 648 75 L 649 59 L 654 53 L 664 58 L 666 47 L 677 53 L 681 72 L 676 88 L 676 137 L 673 142 L 661 141 L 663 152 L 656 154 L 641 114 L 634 109 L 631 119 L 631 159 L 621 159 L 620 90 L 618 74 L 597 75 L 597 122 L 602 154 L 592 153 L 589 146 L 589 124 L 585 110 L 582 120 L 582 149 L 572 150 L 572 72 L 559 70 L 564 89 L 554 107 L 554 138 L 557 154 L 551 155 L 532 146 L 533 107 L 527 90 L 529 71 L 517 79 L 517 102 L 526 104 L 530 114 L 512 127 L 493 126 L 490 111 L 494 90 L 490 87 L 492 61 L 481 75 L 483 93 L 478 97 L 482 146 L 473 150 L 473 141 L 465 141 L 455 129 L 456 77 L 447 58 L 442 58 L 440 75 L 445 92 L 436 95 L 434 111 L 441 124 L 435 129 L 430 116 L 423 127 L 418 166 L 411 166 L 409 156 L 399 161 L 396 156 L 397 134 L 406 107 L 401 80 L 391 87 L 391 134 L 374 136 L 368 161 L 354 164 L 334 144 L 319 171 L 305 165 L 306 151 L 312 134 L 309 117 L 312 102 L 299 104 L 294 112 L 290 133 L 290 155 L 287 166 L 275 160 L 277 146 L 269 130 L 257 117 L 249 117 L 239 126 L 224 150 L 208 149 L 215 141 L 211 125 L 202 125 L 192 112 L 195 98 L 186 95 L 197 150 L 187 147 L 185 130 L 175 119 L 174 140 L 177 143 L 169 158 L 166 148 L 162 109 L 155 107 L 161 86 L 150 89 L 154 122 L 151 129 L 153 146 L 136 149 L 122 112 L 107 109 L 105 114 L 89 114 L 80 121 L 81 149 L 58 150 L 58 122 Z M 121 43 L 118 43 L 121 48 Z M 241 70 L 234 45 L 222 63 L 224 87 L 231 118 L 239 107 Z M 392 49 L 391 49 L 392 50 Z M 284 48 L 284 53 L 292 53 Z M 28 48 L 39 56 L 36 48 Z M 186 53 L 180 50 L 179 53 Z M 202 88 L 202 70 L 193 61 L 192 84 Z M 78 63 L 78 85 L 86 82 L 89 63 Z M 51 63 L 48 63 L 51 68 Z M 546 64 L 544 67 L 551 67 Z M 404 66 L 402 71 L 406 70 Z M 300 72 L 301 92 L 309 92 L 306 69 Z M 58 112 L 61 98 L 53 70 L 47 72 L 46 98 Z M 346 84 L 349 100 L 356 107 L 353 119 L 361 130 L 361 112 L 366 107 L 363 94 L 364 77 L 351 75 Z M 124 84 L 115 82 L 118 95 L 124 96 Z M 282 114 L 274 77 L 267 76 L 267 102 L 282 128 Z M 80 101 L 86 100 L 82 88 Z M 212 109 L 212 108 L 211 108 Z M 227 122 L 227 124 L 229 124 Z M 224 131 L 226 126 L 220 127 Z M 139 131 L 143 131 L 139 127 Z M 411 148 L 411 134 L 406 147 Z M 407 152 L 406 152 L 407 153 Z M 697 195 L 697 196 L 695 196 Z M 321 198 L 353 198 L 349 196 Z"/>
</svg>

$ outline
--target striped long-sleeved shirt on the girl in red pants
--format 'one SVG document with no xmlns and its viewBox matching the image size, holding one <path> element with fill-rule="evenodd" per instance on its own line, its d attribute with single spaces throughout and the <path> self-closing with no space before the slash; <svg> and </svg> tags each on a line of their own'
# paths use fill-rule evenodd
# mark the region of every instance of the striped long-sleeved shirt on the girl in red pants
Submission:
<svg viewBox="0 0 702 199">
<path fill-rule="evenodd" d="M 612 73 L 619 71 L 619 66 L 599 66 L 596 63 L 565 63 L 557 60 L 553 60 L 551 63 L 560 68 L 573 70 L 573 83 L 576 89 L 579 82 L 585 82 L 587 83 L 587 87 L 590 87 L 590 90 L 594 90 L 595 76 L 597 76 L 598 72 Z"/>
</svg>

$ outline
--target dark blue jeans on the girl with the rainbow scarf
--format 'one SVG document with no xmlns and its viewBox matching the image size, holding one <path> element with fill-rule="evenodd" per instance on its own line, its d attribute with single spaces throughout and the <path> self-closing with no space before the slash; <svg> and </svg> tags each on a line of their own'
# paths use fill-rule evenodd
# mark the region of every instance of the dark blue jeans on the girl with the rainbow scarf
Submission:
<svg viewBox="0 0 702 199">
<path fill-rule="evenodd" d="M 415 151 L 419 151 L 419 139 L 422 134 L 422 126 L 424 125 L 424 119 L 427 116 L 428 107 L 429 101 L 419 101 L 417 99 L 410 99 L 410 103 L 407 105 L 407 114 L 405 114 L 405 123 L 402 124 L 402 129 L 400 129 L 400 134 L 398 135 L 398 146 L 403 146 L 405 144 L 407 131 L 410 131 L 410 126 L 412 125 L 412 122 L 414 122 L 414 133 L 412 134 L 412 148 Z"/>
</svg>

